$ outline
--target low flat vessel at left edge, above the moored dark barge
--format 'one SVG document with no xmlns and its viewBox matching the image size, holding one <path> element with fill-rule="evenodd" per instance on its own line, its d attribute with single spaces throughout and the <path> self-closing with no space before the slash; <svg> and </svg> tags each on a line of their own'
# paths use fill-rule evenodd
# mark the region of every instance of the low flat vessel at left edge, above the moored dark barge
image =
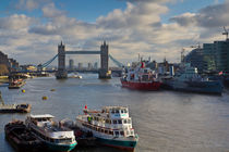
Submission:
<svg viewBox="0 0 229 152">
<path fill-rule="evenodd" d="M 4 104 L 4 101 L 1 97 L 0 91 L 0 113 L 29 113 L 31 112 L 31 104 L 21 103 L 21 104 Z"/>
</svg>

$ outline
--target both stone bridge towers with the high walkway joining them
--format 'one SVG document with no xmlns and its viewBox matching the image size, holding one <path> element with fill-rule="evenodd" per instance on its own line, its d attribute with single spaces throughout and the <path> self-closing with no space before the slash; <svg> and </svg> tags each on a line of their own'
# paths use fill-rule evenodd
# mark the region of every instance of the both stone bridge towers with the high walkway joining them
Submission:
<svg viewBox="0 0 229 152">
<path fill-rule="evenodd" d="M 109 71 L 108 62 L 109 62 L 109 53 L 108 53 L 108 45 L 106 41 L 100 46 L 100 51 L 65 51 L 65 46 L 61 43 L 58 46 L 58 71 L 56 73 L 56 77 L 58 79 L 67 78 L 68 72 L 65 68 L 65 54 L 100 54 L 100 69 L 99 69 L 99 78 L 111 78 L 111 73 Z"/>
</svg>

